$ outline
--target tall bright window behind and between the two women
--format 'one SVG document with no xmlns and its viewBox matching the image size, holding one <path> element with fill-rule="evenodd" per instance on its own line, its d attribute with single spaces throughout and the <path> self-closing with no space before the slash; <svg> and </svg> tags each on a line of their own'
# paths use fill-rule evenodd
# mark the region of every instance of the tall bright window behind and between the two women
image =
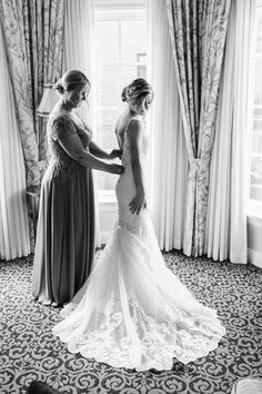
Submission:
<svg viewBox="0 0 262 394">
<path fill-rule="evenodd" d="M 94 12 L 98 144 L 118 147 L 114 125 L 123 110 L 123 87 L 147 78 L 147 14 L 142 0 L 97 0 Z M 114 195 L 117 176 L 98 174 L 100 196 Z"/>
</svg>

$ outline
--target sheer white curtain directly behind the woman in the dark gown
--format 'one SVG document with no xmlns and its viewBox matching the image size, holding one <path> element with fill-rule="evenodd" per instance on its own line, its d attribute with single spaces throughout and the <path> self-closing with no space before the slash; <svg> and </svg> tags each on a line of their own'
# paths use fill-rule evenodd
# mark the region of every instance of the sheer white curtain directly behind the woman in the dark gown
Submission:
<svg viewBox="0 0 262 394">
<path fill-rule="evenodd" d="M 81 70 L 91 81 L 91 91 L 88 98 L 88 105 L 82 104 L 78 110 L 93 130 L 95 139 L 95 73 L 94 73 L 94 6 L 93 0 L 66 0 L 66 20 L 64 20 L 64 52 L 63 52 L 63 72 L 71 69 Z M 98 208 L 98 188 L 95 174 L 94 178 L 94 206 L 95 206 L 95 244 L 101 245 L 99 229 L 99 208 Z"/>
</svg>

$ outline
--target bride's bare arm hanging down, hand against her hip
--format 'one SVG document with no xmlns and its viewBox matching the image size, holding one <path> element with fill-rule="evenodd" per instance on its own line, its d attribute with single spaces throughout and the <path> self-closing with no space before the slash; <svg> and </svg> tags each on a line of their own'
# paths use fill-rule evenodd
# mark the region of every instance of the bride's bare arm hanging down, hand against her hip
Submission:
<svg viewBox="0 0 262 394">
<path fill-rule="evenodd" d="M 145 206 L 145 193 L 142 177 L 142 126 L 141 121 L 132 119 L 127 130 L 129 135 L 131 165 L 133 179 L 137 187 L 137 195 L 129 204 L 132 214 L 139 214 L 141 208 Z"/>
</svg>

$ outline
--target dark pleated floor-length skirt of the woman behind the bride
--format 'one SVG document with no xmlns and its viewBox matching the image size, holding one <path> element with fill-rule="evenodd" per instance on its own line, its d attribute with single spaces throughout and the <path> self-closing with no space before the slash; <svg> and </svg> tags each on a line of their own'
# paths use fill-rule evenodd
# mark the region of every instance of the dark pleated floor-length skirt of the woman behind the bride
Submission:
<svg viewBox="0 0 262 394">
<path fill-rule="evenodd" d="M 94 253 L 92 173 L 43 177 L 34 249 L 32 295 L 46 305 L 70 302 L 87 280 Z"/>
</svg>

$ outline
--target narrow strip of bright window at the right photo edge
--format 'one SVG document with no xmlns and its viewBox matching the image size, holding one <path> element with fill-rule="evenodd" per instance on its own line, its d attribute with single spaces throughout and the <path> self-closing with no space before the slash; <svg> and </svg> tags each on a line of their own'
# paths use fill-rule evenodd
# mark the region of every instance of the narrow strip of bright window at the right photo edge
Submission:
<svg viewBox="0 0 262 394">
<path fill-rule="evenodd" d="M 262 0 L 256 0 L 252 97 L 252 147 L 250 199 L 262 206 Z"/>
</svg>

